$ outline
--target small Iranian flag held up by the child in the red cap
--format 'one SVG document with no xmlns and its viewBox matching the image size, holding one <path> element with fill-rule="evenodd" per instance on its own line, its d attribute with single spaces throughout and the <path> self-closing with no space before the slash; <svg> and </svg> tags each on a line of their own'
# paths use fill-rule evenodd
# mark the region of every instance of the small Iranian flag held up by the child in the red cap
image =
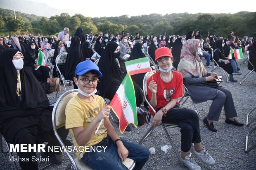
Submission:
<svg viewBox="0 0 256 170">
<path fill-rule="evenodd" d="M 126 70 L 132 76 L 134 74 L 151 72 L 151 67 L 148 57 L 142 57 L 135 60 L 124 62 Z"/>
</svg>

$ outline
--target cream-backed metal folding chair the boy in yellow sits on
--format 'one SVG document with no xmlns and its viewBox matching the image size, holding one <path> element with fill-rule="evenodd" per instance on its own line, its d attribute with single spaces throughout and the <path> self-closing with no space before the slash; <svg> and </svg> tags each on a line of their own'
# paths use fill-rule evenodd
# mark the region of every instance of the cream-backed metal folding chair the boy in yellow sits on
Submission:
<svg viewBox="0 0 256 170">
<path fill-rule="evenodd" d="M 59 99 L 56 101 L 55 106 L 52 110 L 52 127 L 54 134 L 59 141 L 60 145 L 62 147 L 66 147 L 65 144 L 63 143 L 62 139 L 60 138 L 57 129 L 59 129 L 62 126 L 65 126 L 66 123 L 66 116 L 65 116 L 65 109 L 66 105 L 69 102 L 69 100 L 75 96 L 78 93 L 77 89 L 69 90 L 62 94 Z M 71 167 L 74 170 L 91 170 L 90 167 L 85 165 L 82 161 L 78 161 L 78 158 L 76 156 L 75 159 L 72 158 L 72 156 L 69 154 L 68 150 L 65 150 L 66 155 L 68 156 L 69 159 L 69 164 L 66 167 L 66 170 L 70 169 Z M 123 164 L 129 169 L 132 170 L 135 167 L 135 161 L 132 159 L 126 158 L 125 161 L 123 161 Z"/>
</svg>

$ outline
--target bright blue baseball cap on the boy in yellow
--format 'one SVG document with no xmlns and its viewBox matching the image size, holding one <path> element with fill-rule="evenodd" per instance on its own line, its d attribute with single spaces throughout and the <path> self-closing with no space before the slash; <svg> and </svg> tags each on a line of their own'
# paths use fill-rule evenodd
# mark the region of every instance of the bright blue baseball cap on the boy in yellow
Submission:
<svg viewBox="0 0 256 170">
<path fill-rule="evenodd" d="M 80 62 L 76 66 L 76 75 L 78 76 L 82 76 L 83 74 L 89 71 L 96 71 L 98 76 L 102 77 L 102 73 L 100 72 L 99 67 L 96 64 L 94 64 L 91 60 L 85 60 L 83 62 Z"/>
</svg>

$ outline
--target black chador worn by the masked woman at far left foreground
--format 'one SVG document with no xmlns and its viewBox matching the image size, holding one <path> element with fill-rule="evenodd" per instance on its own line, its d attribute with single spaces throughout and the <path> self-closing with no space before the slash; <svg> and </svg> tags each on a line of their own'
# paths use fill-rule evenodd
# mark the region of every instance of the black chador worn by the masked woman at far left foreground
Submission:
<svg viewBox="0 0 256 170">
<path fill-rule="evenodd" d="M 26 67 L 19 70 L 21 100 L 16 93 L 17 70 L 12 59 L 17 52 L 17 49 L 9 48 L 0 55 L 0 133 L 5 134 L 7 141 L 22 136 L 23 134 L 17 133 L 20 129 L 31 129 L 31 133 L 37 136 L 38 128 L 49 131 L 52 128 L 51 123 L 44 127 L 37 126 L 40 121 L 38 116 L 44 121 L 46 115 L 41 114 L 43 108 L 50 103 L 38 80 Z"/>
</svg>

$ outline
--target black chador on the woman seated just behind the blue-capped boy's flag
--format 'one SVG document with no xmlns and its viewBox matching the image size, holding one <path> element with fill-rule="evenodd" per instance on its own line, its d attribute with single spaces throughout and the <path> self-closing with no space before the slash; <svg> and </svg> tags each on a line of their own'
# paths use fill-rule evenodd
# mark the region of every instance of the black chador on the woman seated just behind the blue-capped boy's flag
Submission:
<svg viewBox="0 0 256 170">
<path fill-rule="evenodd" d="M 119 86 L 126 75 L 126 67 L 124 62 L 118 57 L 120 66 L 122 67 L 124 73 L 119 69 L 119 65 L 116 59 L 112 56 L 116 50 L 118 44 L 115 42 L 109 42 L 104 49 L 102 56 L 99 61 L 100 72 L 102 72 L 102 77 L 99 78 L 100 83 L 97 88 L 100 91 L 101 96 L 105 96 L 107 90 L 111 86 Z"/>
</svg>

